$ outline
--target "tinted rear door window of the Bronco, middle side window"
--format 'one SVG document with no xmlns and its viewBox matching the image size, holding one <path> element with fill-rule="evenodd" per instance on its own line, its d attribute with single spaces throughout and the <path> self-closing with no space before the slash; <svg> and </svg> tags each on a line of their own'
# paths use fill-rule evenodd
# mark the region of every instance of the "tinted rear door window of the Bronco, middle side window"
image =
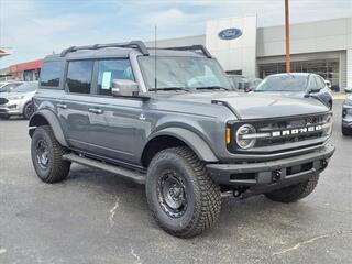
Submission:
<svg viewBox="0 0 352 264">
<path fill-rule="evenodd" d="M 68 63 L 66 85 L 70 92 L 90 94 L 94 61 Z"/>
</svg>

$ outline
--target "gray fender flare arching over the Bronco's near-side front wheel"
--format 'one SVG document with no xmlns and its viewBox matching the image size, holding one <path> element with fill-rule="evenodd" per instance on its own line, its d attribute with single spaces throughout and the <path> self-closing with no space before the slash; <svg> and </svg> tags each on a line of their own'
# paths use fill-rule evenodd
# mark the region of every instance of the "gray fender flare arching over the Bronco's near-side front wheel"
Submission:
<svg viewBox="0 0 352 264">
<path fill-rule="evenodd" d="M 185 144 L 188 145 L 201 161 L 209 163 L 219 162 L 207 142 L 190 130 L 183 128 L 166 128 L 153 133 L 148 142 L 160 135 L 170 135 L 185 142 Z"/>
</svg>

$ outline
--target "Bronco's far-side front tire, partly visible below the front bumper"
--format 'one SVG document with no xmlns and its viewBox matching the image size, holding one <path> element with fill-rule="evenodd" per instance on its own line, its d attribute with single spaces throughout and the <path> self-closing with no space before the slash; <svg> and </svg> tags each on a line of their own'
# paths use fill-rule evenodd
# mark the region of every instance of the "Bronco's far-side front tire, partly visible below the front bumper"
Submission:
<svg viewBox="0 0 352 264">
<path fill-rule="evenodd" d="M 310 195 L 316 188 L 318 180 L 319 175 L 315 175 L 306 182 L 266 193 L 265 196 L 273 201 L 294 202 Z"/>
</svg>

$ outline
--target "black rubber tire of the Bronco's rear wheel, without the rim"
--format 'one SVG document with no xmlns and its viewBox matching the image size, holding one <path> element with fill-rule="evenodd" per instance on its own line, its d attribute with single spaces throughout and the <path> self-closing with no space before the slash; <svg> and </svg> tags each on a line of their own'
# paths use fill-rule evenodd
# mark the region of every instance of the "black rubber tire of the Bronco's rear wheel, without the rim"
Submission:
<svg viewBox="0 0 352 264">
<path fill-rule="evenodd" d="M 36 146 L 40 141 L 44 141 L 47 144 L 47 168 L 41 167 L 37 160 Z M 36 175 L 44 183 L 57 183 L 64 180 L 67 177 L 70 168 L 70 162 L 64 161 L 62 158 L 62 156 L 67 152 L 67 148 L 62 146 L 55 139 L 55 135 L 50 125 L 42 125 L 35 129 L 31 144 L 32 163 Z"/>
</svg>

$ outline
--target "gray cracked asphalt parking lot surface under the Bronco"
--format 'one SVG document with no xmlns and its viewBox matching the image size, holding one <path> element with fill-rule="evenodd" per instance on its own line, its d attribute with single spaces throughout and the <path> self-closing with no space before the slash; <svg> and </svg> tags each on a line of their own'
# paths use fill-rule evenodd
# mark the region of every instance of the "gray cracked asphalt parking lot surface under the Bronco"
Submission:
<svg viewBox="0 0 352 264">
<path fill-rule="evenodd" d="M 144 187 L 82 166 L 47 185 L 30 158 L 28 121 L 0 120 L 0 263 L 352 263 L 352 138 L 341 135 L 316 191 L 292 205 L 223 198 L 220 221 L 180 240 L 163 232 Z"/>
</svg>

